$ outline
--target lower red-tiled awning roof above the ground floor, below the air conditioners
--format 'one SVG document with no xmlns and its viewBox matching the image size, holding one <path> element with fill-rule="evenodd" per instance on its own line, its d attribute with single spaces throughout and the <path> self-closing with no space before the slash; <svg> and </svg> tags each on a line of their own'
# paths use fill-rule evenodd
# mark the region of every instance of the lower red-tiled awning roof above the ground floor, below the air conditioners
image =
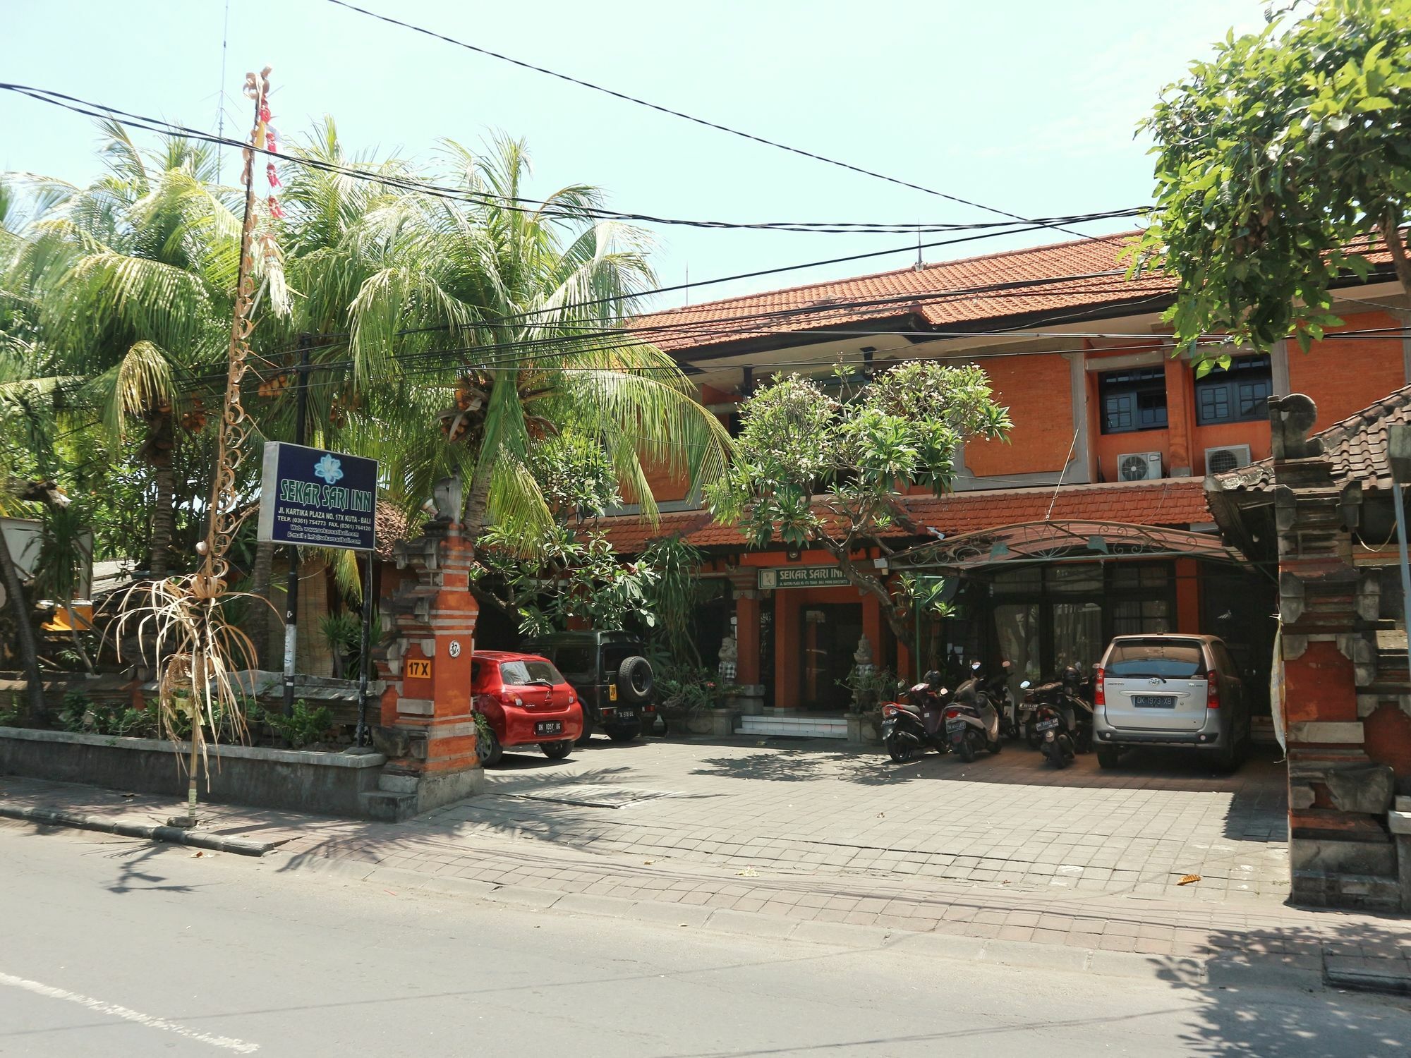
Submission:
<svg viewBox="0 0 1411 1058">
<path fill-rule="evenodd" d="M 902 502 L 920 526 L 947 536 L 1016 522 L 1041 522 L 1047 518 L 1174 526 L 1205 525 L 1212 521 L 1205 505 L 1205 490 L 1195 478 L 1064 485 L 1057 498 L 1051 488 L 1005 488 L 951 492 L 944 497 L 902 497 Z M 608 540 L 619 554 L 636 554 L 649 540 L 662 536 L 682 536 L 697 547 L 748 547 L 739 529 L 717 523 L 706 511 L 663 513 L 656 526 L 634 515 L 602 518 L 594 525 L 607 530 Z M 910 536 L 902 528 L 886 535 Z"/>
</svg>

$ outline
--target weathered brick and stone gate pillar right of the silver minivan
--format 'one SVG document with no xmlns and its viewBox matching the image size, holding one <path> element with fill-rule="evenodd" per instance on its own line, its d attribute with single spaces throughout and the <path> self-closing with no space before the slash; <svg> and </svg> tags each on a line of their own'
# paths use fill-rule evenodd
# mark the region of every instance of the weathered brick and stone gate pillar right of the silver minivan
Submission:
<svg viewBox="0 0 1411 1058">
<path fill-rule="evenodd" d="M 1338 481 L 1316 418 L 1295 394 L 1270 401 L 1278 611 L 1288 746 L 1291 900 L 1395 908 L 1395 846 L 1386 828 L 1393 772 L 1366 753 L 1359 694 L 1377 679 L 1374 576 L 1352 563 L 1360 481 Z"/>
</svg>

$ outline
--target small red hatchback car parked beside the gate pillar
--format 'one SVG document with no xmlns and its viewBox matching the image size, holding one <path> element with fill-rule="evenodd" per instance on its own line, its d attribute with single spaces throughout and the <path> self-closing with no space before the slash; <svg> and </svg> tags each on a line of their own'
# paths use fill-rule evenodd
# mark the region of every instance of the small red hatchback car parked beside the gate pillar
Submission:
<svg viewBox="0 0 1411 1058">
<path fill-rule="evenodd" d="M 477 650 L 470 662 L 470 693 L 476 711 L 490 721 L 481 765 L 494 765 L 509 746 L 531 745 L 560 760 L 583 734 L 577 693 L 539 655 Z"/>
</svg>

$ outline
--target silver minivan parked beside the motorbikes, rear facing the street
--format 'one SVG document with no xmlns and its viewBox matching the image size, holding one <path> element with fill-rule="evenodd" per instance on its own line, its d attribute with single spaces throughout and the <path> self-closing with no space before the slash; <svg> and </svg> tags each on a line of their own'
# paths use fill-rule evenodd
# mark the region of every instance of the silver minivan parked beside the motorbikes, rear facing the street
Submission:
<svg viewBox="0 0 1411 1058">
<path fill-rule="evenodd" d="M 1249 745 L 1249 701 L 1215 636 L 1133 635 L 1108 645 L 1094 680 L 1098 763 L 1132 746 L 1191 746 L 1221 770 Z"/>
</svg>

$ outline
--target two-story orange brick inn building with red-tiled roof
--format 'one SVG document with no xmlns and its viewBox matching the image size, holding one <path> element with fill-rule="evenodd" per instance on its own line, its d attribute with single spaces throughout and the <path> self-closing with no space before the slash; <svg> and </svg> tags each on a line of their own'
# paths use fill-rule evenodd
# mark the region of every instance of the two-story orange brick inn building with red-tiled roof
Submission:
<svg viewBox="0 0 1411 1058">
<path fill-rule="evenodd" d="M 1010 411 L 1009 442 L 967 444 L 951 494 L 906 498 L 927 530 L 906 564 L 947 578 L 955 616 L 897 642 L 823 552 L 752 550 L 666 475 L 653 482 L 660 525 L 625 508 L 608 519 L 614 545 L 629 554 L 677 533 L 711 556 L 703 655 L 734 628 L 737 680 L 762 686 L 775 710 L 842 708 L 838 681 L 864 635 L 878 663 L 904 676 L 1003 656 L 1017 680 L 1091 663 L 1115 633 L 1212 632 L 1267 686 L 1274 578 L 1219 546 L 1204 478 L 1270 454 L 1271 394 L 1314 396 L 1321 429 L 1411 382 L 1411 306 L 1390 272 L 1349 281 L 1333 306 L 1345 326 L 1309 353 L 1235 350 L 1229 370 L 1197 378 L 1161 322 L 1171 282 L 1127 279 L 1126 238 L 811 284 L 634 324 L 727 423 L 779 372 L 920 357 L 982 365 Z M 909 543 L 900 532 L 897 543 Z"/>
</svg>

